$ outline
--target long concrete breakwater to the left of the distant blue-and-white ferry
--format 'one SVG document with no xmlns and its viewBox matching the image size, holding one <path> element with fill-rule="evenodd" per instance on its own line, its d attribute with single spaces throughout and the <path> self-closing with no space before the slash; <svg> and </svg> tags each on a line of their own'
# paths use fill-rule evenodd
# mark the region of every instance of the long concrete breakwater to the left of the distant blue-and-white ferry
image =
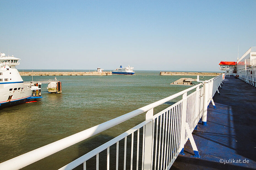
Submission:
<svg viewBox="0 0 256 170">
<path fill-rule="evenodd" d="M 103 72 L 19 72 L 21 76 L 111 76 L 111 71 Z"/>
</svg>

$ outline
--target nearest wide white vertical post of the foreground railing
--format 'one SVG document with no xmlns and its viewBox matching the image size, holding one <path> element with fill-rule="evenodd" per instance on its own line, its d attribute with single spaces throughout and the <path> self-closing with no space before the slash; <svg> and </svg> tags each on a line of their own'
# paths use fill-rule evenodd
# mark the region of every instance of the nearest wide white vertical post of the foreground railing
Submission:
<svg viewBox="0 0 256 170">
<path fill-rule="evenodd" d="M 146 113 L 146 120 L 153 120 L 153 108 Z M 145 125 L 144 169 L 151 169 L 153 121 Z"/>
</svg>

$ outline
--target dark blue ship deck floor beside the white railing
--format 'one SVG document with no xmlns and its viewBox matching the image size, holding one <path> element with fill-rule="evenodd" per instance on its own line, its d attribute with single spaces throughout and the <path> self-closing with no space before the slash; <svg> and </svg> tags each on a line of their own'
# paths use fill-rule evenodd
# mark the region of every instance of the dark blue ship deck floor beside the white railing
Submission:
<svg viewBox="0 0 256 170">
<path fill-rule="evenodd" d="M 193 132 L 201 158 L 193 157 L 188 140 L 171 169 L 256 169 L 256 89 L 230 76 L 219 91 L 213 97 L 217 109 L 208 107 L 207 125 L 199 122 Z M 247 163 L 233 162 L 239 159 Z"/>
</svg>

